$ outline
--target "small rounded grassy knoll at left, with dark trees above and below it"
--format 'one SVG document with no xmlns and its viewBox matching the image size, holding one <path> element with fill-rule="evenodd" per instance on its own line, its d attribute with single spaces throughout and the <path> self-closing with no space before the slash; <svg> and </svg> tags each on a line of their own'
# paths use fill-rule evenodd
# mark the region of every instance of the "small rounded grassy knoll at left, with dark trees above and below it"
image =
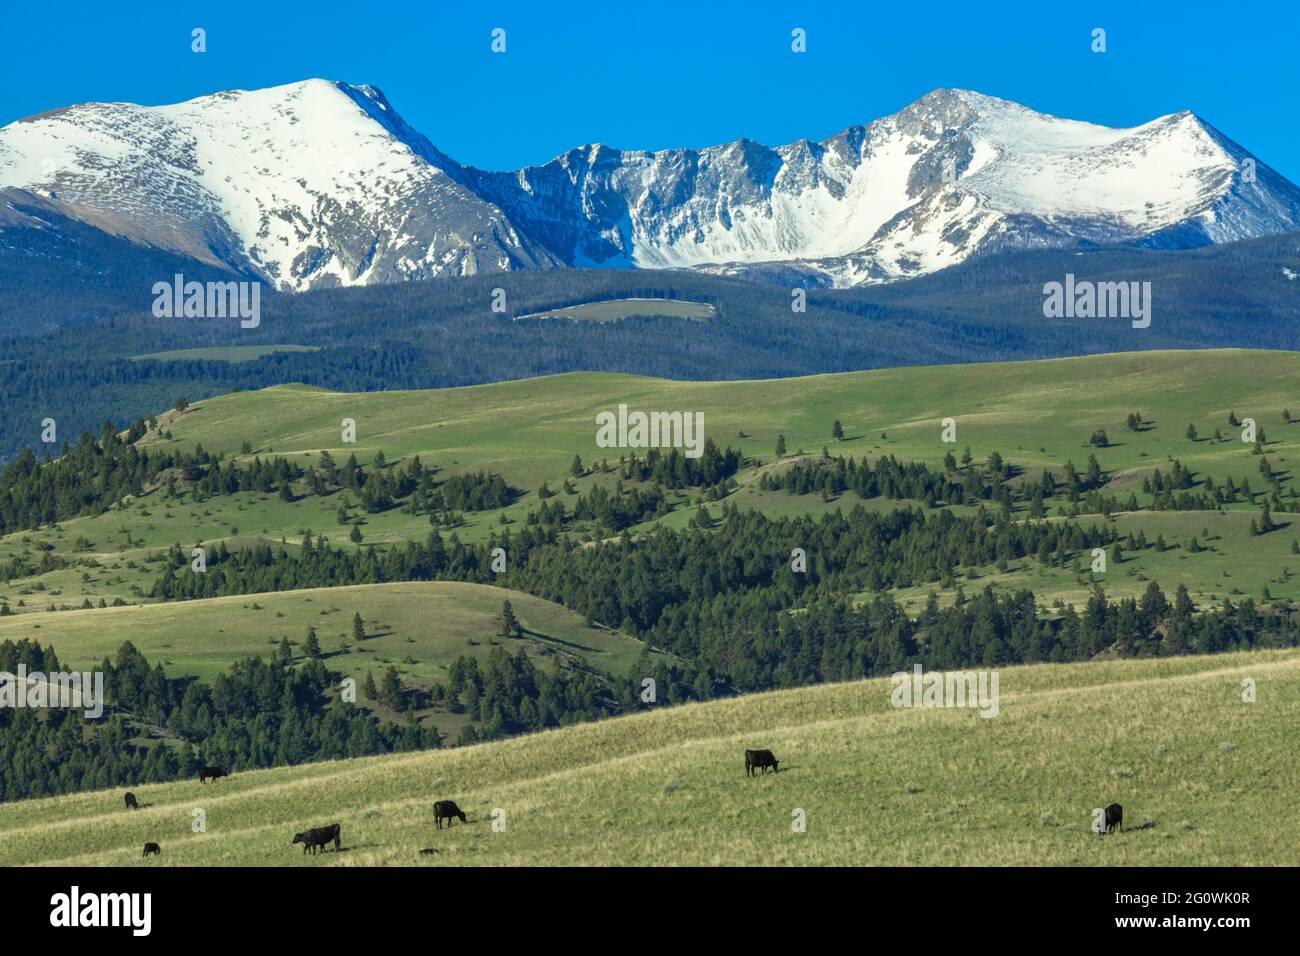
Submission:
<svg viewBox="0 0 1300 956">
<path fill-rule="evenodd" d="M 503 601 L 511 602 L 524 637 L 498 635 Z M 364 622 L 365 639 L 359 644 L 352 639 L 354 614 Z M 274 653 L 281 639 L 289 639 L 299 659 L 308 627 L 316 628 L 326 666 L 359 684 L 368 670 L 378 678 L 384 667 L 395 663 L 408 684 L 428 685 L 445 678 L 458 657 L 481 663 L 498 645 L 512 654 L 523 649 L 547 667 L 566 661 L 620 676 L 642 653 L 650 653 L 641 641 L 588 627 L 580 615 L 538 597 L 458 581 L 360 584 L 34 613 L 0 618 L 0 640 L 35 637 L 53 644 L 60 661 L 73 669 L 99 665 L 129 640 L 151 663 L 161 663 L 168 676 L 211 680 L 235 661 Z"/>
</svg>

